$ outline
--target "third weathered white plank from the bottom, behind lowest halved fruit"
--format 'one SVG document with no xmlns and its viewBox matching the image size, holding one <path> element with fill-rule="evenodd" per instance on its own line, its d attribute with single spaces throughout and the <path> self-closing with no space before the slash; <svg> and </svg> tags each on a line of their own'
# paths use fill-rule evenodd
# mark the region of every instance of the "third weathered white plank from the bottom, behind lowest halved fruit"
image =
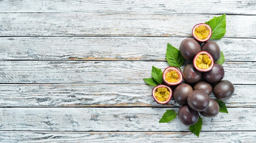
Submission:
<svg viewBox="0 0 256 143">
<path fill-rule="evenodd" d="M 234 85 L 227 107 L 256 107 L 256 85 Z M 1 84 L 1 107 L 173 107 L 157 104 L 148 85 Z M 210 95 L 215 99 L 214 95 Z M 246 97 L 246 98 L 245 98 Z"/>
</svg>

